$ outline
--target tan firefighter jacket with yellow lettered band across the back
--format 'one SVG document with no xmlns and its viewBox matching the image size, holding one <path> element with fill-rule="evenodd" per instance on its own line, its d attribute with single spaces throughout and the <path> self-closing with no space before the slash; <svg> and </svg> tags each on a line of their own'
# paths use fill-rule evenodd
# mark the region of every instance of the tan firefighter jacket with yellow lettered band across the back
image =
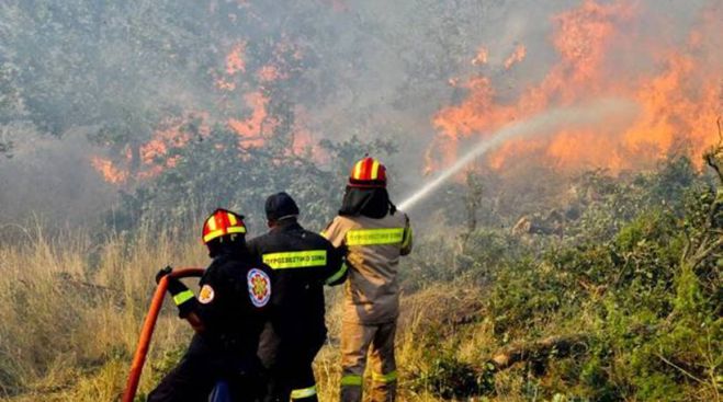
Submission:
<svg viewBox="0 0 723 402">
<path fill-rule="evenodd" d="M 381 219 L 337 216 L 323 234 L 335 246 L 349 250 L 343 320 L 361 324 L 395 321 L 399 314 L 399 256 L 411 252 L 409 218 L 398 210 Z"/>
</svg>

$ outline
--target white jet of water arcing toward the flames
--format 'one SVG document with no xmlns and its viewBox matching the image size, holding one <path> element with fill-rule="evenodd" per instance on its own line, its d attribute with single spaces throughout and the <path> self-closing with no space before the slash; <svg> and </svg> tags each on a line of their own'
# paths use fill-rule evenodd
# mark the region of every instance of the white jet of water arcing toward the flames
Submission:
<svg viewBox="0 0 723 402">
<path fill-rule="evenodd" d="M 561 127 L 584 126 L 601 123 L 610 116 L 629 115 L 637 110 L 637 105 L 628 100 L 605 99 L 579 106 L 560 107 L 532 116 L 526 120 L 509 124 L 477 143 L 472 150 L 460 158 L 454 164 L 442 171 L 431 182 L 399 204 L 399 209 L 406 210 L 429 196 L 475 159 L 484 156 L 500 145 L 517 138 L 533 134 L 544 135 Z"/>
</svg>

